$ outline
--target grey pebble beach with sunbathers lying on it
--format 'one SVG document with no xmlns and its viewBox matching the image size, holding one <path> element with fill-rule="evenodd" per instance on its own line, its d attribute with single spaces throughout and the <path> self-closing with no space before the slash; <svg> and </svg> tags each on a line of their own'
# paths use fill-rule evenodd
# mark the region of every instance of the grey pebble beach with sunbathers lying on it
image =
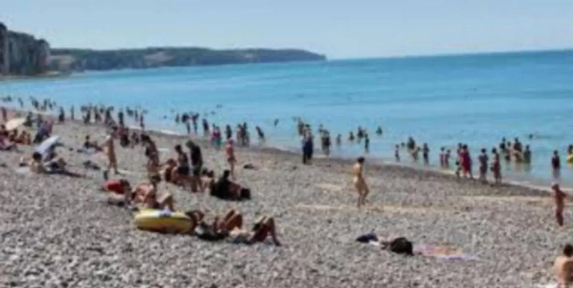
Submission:
<svg viewBox="0 0 573 288">
<path fill-rule="evenodd" d="M 260 215 L 277 224 L 281 247 L 209 243 L 185 235 L 139 231 L 131 212 L 102 201 L 101 171 L 87 170 L 79 148 L 105 130 L 54 126 L 58 153 L 85 178 L 21 173 L 23 154 L 0 152 L 1 287 L 536 287 L 554 282 L 552 261 L 570 238 L 555 223 L 550 194 L 525 186 L 490 186 L 395 165 L 369 165 L 367 205 L 356 208 L 352 162 L 264 148 L 237 148 L 237 181 L 253 199 L 222 201 L 173 185 L 176 207 L 237 209 L 249 226 Z M 162 158 L 185 138 L 152 134 Z M 205 165 L 226 169 L 222 151 L 202 145 Z M 122 177 L 146 175 L 142 147 L 116 147 Z M 167 151 L 170 149 L 170 151 Z M 165 154 L 165 156 L 163 155 Z M 92 160 L 97 161 L 97 157 Z M 103 162 L 101 162 L 103 164 Z M 255 169 L 242 169 L 252 164 Z M 208 218 L 209 218 L 208 216 Z M 455 247 L 479 260 L 406 257 L 355 242 L 374 230 L 415 244 Z"/>
</svg>

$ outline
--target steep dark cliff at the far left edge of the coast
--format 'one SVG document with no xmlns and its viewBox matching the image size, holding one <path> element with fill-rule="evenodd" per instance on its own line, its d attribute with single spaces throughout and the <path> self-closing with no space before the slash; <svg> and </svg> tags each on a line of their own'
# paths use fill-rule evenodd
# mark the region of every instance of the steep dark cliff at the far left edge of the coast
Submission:
<svg viewBox="0 0 573 288">
<path fill-rule="evenodd" d="M 0 22 L 0 75 L 38 75 L 48 71 L 50 45 Z"/>
</svg>

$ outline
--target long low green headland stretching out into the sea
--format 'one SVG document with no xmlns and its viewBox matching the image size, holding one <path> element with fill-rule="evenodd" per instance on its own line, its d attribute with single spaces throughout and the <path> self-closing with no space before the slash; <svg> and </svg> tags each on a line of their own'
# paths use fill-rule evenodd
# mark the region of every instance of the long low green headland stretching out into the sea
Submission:
<svg viewBox="0 0 573 288">
<path fill-rule="evenodd" d="M 52 49 L 50 68 L 59 71 L 109 70 L 163 66 L 221 65 L 325 60 L 299 49 L 144 48 L 120 50 Z"/>
</svg>

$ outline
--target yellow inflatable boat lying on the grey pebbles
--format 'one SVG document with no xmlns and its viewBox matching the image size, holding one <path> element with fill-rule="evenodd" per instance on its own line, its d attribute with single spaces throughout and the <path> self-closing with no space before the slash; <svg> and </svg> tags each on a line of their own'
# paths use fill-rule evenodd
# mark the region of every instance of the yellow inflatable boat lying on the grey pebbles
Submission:
<svg viewBox="0 0 573 288">
<path fill-rule="evenodd" d="M 183 212 L 143 209 L 135 214 L 135 226 L 154 232 L 189 233 L 193 220 Z"/>
</svg>

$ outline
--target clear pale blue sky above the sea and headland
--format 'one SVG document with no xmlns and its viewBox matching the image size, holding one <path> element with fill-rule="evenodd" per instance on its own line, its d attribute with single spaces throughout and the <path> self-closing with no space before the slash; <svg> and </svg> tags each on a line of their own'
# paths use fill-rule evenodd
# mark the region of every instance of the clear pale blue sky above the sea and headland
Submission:
<svg viewBox="0 0 573 288">
<path fill-rule="evenodd" d="M 53 47 L 303 48 L 331 58 L 573 47 L 573 0 L 2 0 Z"/>
</svg>

